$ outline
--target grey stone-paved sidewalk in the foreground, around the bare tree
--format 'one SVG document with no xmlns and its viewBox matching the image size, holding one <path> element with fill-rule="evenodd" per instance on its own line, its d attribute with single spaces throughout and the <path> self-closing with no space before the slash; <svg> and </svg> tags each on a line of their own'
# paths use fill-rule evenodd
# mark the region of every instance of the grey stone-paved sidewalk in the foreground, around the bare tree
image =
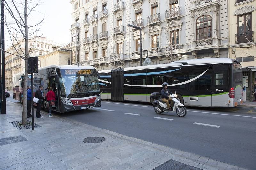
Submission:
<svg viewBox="0 0 256 170">
<path fill-rule="evenodd" d="M 22 135 L 27 141 L 1 146 L 0 139 L 0 169 L 150 170 L 170 159 L 206 170 L 243 169 L 80 122 L 49 118 L 45 114 L 42 119 L 35 118 L 35 123 L 41 127 L 34 131 L 19 130 L 9 122 L 21 120 L 21 107 L 11 102 L 7 102 L 6 107 L 7 114 L 0 115 L 0 138 Z M 84 138 L 95 136 L 106 140 L 83 142 Z"/>
</svg>

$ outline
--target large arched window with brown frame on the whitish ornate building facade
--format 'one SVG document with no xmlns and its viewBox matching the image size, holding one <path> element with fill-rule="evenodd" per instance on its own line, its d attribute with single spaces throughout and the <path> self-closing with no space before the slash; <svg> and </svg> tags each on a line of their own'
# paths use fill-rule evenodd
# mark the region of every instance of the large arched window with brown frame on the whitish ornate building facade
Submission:
<svg viewBox="0 0 256 170">
<path fill-rule="evenodd" d="M 212 38 L 212 18 L 203 15 L 196 20 L 196 39 Z"/>
</svg>

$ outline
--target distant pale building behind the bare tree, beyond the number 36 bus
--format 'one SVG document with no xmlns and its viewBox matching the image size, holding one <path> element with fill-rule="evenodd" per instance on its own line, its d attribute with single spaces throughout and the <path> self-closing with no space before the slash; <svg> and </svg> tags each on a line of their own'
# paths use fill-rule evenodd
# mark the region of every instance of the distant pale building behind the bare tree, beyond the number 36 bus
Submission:
<svg viewBox="0 0 256 170">
<path fill-rule="evenodd" d="M 13 45 L 18 47 L 18 43 L 13 40 Z M 30 37 L 28 40 L 29 55 L 31 57 L 45 55 L 50 51 L 53 51 L 53 46 L 60 45 L 52 40 L 48 40 L 46 37 Z M 20 47 L 25 47 L 25 41 L 20 38 Z M 19 49 L 19 48 L 17 48 Z M 13 46 L 10 46 L 5 53 L 5 86 L 8 89 L 12 89 L 12 76 L 17 73 L 24 72 L 25 62 L 22 58 L 16 55 L 21 55 L 22 52 L 15 51 Z M 14 55 L 12 55 L 14 54 Z M 40 61 L 39 61 L 40 67 Z"/>
</svg>

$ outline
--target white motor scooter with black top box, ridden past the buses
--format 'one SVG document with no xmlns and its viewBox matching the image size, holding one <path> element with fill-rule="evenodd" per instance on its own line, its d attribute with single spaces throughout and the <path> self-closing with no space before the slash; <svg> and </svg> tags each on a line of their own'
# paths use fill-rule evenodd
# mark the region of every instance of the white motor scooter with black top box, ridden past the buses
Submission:
<svg viewBox="0 0 256 170">
<path fill-rule="evenodd" d="M 169 94 L 168 92 L 166 92 L 166 94 Z M 161 94 L 159 92 L 154 92 L 150 95 L 150 97 L 152 99 L 155 99 L 153 107 L 154 110 L 156 112 L 156 114 L 161 114 L 163 112 L 176 112 L 176 114 L 179 117 L 184 117 L 187 114 L 187 110 L 186 107 L 180 103 L 180 100 L 178 98 L 178 95 L 176 94 L 176 91 L 174 94 L 169 94 L 174 102 L 174 105 L 172 107 L 172 109 L 168 109 L 167 108 L 167 104 L 162 102 L 161 100 Z"/>
</svg>

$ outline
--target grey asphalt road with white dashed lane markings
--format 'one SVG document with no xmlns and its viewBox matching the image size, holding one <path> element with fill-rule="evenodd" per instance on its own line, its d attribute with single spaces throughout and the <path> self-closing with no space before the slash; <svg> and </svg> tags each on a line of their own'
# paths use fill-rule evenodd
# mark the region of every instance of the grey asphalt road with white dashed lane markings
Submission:
<svg viewBox="0 0 256 170">
<path fill-rule="evenodd" d="M 12 95 L 6 99 L 17 102 Z M 100 108 L 52 115 L 244 168 L 256 167 L 256 108 L 188 108 L 181 118 L 176 113 L 157 115 L 147 104 L 102 101 Z"/>
</svg>

